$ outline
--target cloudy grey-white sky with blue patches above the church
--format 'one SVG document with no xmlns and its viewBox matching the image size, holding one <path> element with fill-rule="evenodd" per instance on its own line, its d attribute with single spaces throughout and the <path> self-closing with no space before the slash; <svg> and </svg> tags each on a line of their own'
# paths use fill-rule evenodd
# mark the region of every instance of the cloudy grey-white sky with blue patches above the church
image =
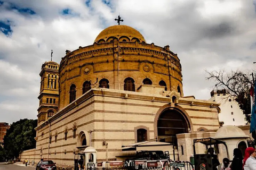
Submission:
<svg viewBox="0 0 256 170">
<path fill-rule="evenodd" d="M 148 44 L 169 45 L 185 96 L 209 99 L 205 70 L 255 69 L 256 0 L 0 0 L 0 122 L 37 118 L 39 72 L 93 44 L 118 14 Z"/>
</svg>

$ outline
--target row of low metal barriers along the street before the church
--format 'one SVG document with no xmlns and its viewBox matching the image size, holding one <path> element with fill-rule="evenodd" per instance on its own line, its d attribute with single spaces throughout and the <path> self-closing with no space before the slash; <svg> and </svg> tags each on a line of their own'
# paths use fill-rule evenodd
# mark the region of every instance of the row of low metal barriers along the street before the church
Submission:
<svg viewBox="0 0 256 170">
<path fill-rule="evenodd" d="M 87 166 L 88 167 L 88 166 Z M 111 161 L 98 162 L 95 170 L 194 170 L 194 166 L 190 162 L 174 161 L 174 160 L 130 160 L 126 162 Z"/>
</svg>

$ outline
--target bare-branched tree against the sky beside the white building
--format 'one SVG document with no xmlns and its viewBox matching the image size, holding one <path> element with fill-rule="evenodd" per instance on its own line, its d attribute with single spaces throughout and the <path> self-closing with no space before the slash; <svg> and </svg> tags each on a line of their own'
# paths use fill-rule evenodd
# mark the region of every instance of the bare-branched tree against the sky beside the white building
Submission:
<svg viewBox="0 0 256 170">
<path fill-rule="evenodd" d="M 225 70 L 212 72 L 206 70 L 206 73 L 208 74 L 206 80 L 215 81 L 215 87 L 228 89 L 230 96 L 237 101 L 239 107 L 246 116 L 247 122 L 250 123 L 250 88 L 254 83 L 252 73 L 249 71 L 231 71 L 230 73 L 227 73 Z"/>
</svg>

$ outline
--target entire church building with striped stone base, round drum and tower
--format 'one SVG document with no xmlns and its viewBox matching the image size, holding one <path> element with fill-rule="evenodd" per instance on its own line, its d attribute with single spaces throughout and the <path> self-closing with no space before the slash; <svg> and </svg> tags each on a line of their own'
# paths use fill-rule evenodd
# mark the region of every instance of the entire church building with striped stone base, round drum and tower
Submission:
<svg viewBox="0 0 256 170">
<path fill-rule="evenodd" d="M 39 75 L 36 148 L 22 155 L 35 163 L 74 165 L 89 146 L 97 162 L 124 160 L 135 151 L 122 146 L 142 141 L 170 143 L 171 158 L 189 160 L 193 139 L 220 127 L 219 104 L 183 94 L 178 55 L 168 45 L 147 44 L 127 25 L 66 50 L 60 64 L 45 62 Z"/>
</svg>

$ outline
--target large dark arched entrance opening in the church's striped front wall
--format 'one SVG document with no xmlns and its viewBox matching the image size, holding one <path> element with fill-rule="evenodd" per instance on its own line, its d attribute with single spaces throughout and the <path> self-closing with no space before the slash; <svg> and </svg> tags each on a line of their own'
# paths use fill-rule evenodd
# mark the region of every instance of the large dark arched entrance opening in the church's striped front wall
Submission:
<svg viewBox="0 0 256 170">
<path fill-rule="evenodd" d="M 158 141 L 169 142 L 177 146 L 176 134 L 188 133 L 189 123 L 187 117 L 175 109 L 165 109 L 158 117 Z"/>
</svg>

